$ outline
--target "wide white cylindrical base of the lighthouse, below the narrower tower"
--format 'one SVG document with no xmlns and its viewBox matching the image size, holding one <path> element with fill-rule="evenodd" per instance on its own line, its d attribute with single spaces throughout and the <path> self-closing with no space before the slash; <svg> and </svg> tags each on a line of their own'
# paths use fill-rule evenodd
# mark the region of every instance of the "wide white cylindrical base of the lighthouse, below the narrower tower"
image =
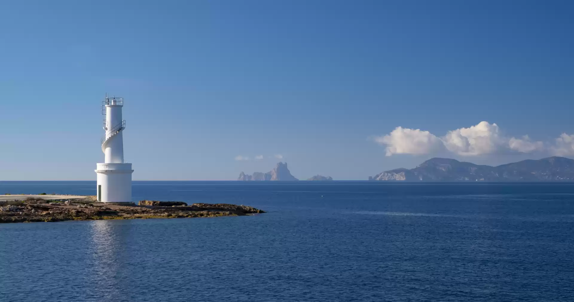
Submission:
<svg viewBox="0 0 574 302">
<path fill-rule="evenodd" d="M 131 202 L 131 163 L 98 163 L 95 172 L 99 202 Z"/>
</svg>

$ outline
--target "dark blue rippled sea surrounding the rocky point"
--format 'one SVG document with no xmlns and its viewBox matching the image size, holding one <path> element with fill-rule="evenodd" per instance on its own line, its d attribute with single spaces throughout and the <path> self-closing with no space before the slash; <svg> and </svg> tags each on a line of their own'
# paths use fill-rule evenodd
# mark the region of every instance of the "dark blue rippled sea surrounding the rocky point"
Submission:
<svg viewBox="0 0 574 302">
<path fill-rule="evenodd" d="M 94 182 L 0 193 L 95 194 Z M 574 301 L 574 184 L 134 182 L 247 217 L 0 225 L 1 301 Z"/>
</svg>

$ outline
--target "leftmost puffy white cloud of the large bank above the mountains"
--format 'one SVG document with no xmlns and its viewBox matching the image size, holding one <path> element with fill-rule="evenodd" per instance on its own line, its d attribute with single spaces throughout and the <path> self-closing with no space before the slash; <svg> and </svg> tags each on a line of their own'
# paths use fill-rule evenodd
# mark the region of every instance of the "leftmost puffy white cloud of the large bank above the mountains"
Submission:
<svg viewBox="0 0 574 302">
<path fill-rule="evenodd" d="M 386 146 L 386 156 L 393 154 L 428 154 L 439 150 L 442 143 L 428 131 L 397 127 L 385 136 L 375 138 Z"/>
</svg>

